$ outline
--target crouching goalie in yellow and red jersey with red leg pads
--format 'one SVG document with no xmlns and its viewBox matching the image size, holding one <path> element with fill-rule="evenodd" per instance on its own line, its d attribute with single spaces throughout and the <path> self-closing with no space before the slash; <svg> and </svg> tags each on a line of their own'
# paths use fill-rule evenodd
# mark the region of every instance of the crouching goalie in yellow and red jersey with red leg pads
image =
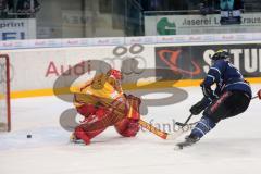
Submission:
<svg viewBox="0 0 261 174">
<path fill-rule="evenodd" d="M 140 99 L 123 94 L 121 79 L 120 71 L 110 70 L 77 89 L 74 104 L 84 120 L 75 127 L 71 141 L 82 139 L 89 145 L 109 126 L 114 126 L 124 137 L 136 136 L 139 132 Z"/>
</svg>

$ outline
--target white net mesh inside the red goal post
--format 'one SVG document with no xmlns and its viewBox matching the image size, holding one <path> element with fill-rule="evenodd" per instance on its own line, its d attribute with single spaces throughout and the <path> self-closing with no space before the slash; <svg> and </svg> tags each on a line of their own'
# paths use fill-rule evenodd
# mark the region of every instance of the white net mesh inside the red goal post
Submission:
<svg viewBox="0 0 261 174">
<path fill-rule="evenodd" d="M 8 58 L 0 55 L 0 132 L 9 130 Z"/>
</svg>

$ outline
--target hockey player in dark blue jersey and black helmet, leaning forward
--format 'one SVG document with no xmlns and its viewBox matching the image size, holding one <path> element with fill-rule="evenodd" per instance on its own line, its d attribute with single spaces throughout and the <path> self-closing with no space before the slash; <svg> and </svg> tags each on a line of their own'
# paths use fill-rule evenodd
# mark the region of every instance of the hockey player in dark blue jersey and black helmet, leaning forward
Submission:
<svg viewBox="0 0 261 174">
<path fill-rule="evenodd" d="M 221 120 L 245 112 L 250 103 L 251 88 L 229 62 L 229 53 L 220 50 L 214 53 L 211 61 L 208 75 L 200 85 L 204 97 L 190 108 L 191 114 L 198 115 L 203 111 L 203 116 L 185 141 L 177 144 L 179 148 L 197 142 Z M 216 87 L 212 90 L 211 86 L 214 84 Z"/>
</svg>

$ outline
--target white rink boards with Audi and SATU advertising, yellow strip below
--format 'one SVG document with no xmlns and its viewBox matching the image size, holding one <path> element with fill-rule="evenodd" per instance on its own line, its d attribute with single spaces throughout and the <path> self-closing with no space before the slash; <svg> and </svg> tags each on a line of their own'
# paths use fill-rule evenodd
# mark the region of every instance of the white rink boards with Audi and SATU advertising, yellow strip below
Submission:
<svg viewBox="0 0 261 174">
<path fill-rule="evenodd" d="M 12 98 L 51 96 L 107 67 L 123 71 L 126 90 L 199 85 L 219 49 L 250 83 L 261 83 L 259 34 L 2 41 L 11 58 Z M 61 78 L 62 76 L 62 78 Z M 59 86 L 54 85 L 58 80 Z"/>
</svg>

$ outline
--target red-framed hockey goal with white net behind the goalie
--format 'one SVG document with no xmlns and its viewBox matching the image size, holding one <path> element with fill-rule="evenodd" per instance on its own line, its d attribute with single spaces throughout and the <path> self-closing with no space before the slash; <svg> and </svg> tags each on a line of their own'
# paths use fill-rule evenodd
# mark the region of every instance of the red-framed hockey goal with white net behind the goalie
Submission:
<svg viewBox="0 0 261 174">
<path fill-rule="evenodd" d="M 0 54 L 0 132 L 11 130 L 10 114 L 10 62 L 7 54 Z"/>
</svg>

